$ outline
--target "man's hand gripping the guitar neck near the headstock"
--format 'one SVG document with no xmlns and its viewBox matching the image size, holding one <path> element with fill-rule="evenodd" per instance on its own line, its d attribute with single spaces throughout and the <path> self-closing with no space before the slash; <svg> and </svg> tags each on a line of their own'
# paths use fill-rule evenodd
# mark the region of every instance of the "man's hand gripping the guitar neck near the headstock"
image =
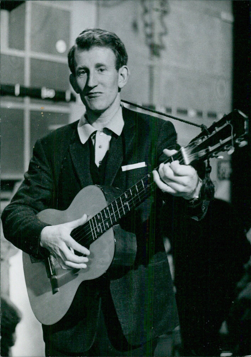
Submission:
<svg viewBox="0 0 251 357">
<path fill-rule="evenodd" d="M 176 150 L 163 150 L 168 157 L 176 154 Z M 178 160 L 160 164 L 158 172 L 153 171 L 153 179 L 163 192 L 180 196 L 185 200 L 199 197 L 201 179 L 197 171 L 190 165 L 180 165 Z"/>
</svg>

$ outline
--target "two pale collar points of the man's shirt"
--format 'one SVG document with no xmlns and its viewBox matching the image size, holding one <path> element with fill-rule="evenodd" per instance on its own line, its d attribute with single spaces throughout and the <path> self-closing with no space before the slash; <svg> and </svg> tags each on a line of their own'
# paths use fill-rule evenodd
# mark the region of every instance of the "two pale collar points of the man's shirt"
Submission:
<svg viewBox="0 0 251 357">
<path fill-rule="evenodd" d="M 82 142 L 82 144 L 85 144 L 89 137 L 93 134 L 93 132 L 97 131 L 97 129 L 95 129 L 91 124 L 88 123 L 85 114 L 86 113 L 81 116 L 77 127 L 78 136 L 80 137 L 80 141 Z M 106 125 L 106 128 L 110 129 L 112 132 L 119 136 L 122 133 L 123 127 L 124 120 L 122 115 L 122 106 L 120 105 L 117 112 L 113 115 L 111 120 Z"/>
</svg>

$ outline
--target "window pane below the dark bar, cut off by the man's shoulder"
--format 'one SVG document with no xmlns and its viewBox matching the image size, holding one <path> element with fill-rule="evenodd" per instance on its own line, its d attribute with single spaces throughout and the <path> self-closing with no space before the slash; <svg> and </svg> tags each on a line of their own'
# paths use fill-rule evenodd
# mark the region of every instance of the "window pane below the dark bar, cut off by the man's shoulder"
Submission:
<svg viewBox="0 0 251 357">
<path fill-rule="evenodd" d="M 68 122 L 67 113 L 31 111 L 31 153 L 36 140 Z"/>
</svg>

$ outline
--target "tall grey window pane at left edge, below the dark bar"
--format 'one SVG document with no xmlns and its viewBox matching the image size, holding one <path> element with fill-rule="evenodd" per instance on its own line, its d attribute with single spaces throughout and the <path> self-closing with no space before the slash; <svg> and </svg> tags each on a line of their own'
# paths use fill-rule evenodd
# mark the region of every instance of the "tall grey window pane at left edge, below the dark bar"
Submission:
<svg viewBox="0 0 251 357">
<path fill-rule="evenodd" d="M 24 112 L 1 108 L 1 175 L 24 173 Z"/>
</svg>

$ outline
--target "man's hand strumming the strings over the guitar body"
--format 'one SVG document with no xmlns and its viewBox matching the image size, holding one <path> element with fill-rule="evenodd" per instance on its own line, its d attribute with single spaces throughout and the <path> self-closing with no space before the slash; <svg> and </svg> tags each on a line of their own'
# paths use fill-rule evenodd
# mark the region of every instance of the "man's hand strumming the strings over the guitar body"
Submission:
<svg viewBox="0 0 251 357">
<path fill-rule="evenodd" d="M 46 248 L 58 261 L 62 269 L 87 268 L 88 258 L 75 255 L 73 250 L 89 255 L 90 251 L 71 237 L 71 231 L 87 221 L 87 215 L 75 221 L 55 226 L 46 226 L 40 235 L 40 245 Z"/>
</svg>

